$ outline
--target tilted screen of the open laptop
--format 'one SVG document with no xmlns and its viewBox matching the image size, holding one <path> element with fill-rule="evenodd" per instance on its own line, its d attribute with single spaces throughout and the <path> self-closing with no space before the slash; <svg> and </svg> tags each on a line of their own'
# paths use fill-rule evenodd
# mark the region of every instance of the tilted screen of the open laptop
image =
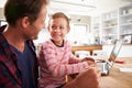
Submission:
<svg viewBox="0 0 132 88">
<path fill-rule="evenodd" d="M 123 43 L 122 40 L 116 40 L 112 52 L 109 57 L 109 63 L 114 63 L 114 59 L 117 58 L 117 56 L 120 52 L 122 43 Z"/>
</svg>

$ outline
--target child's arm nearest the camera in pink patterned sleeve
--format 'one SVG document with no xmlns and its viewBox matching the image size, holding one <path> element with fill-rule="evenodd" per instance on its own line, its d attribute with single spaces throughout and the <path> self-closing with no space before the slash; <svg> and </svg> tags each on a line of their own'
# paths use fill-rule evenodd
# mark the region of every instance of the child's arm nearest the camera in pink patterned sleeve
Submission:
<svg viewBox="0 0 132 88">
<path fill-rule="evenodd" d="M 43 50 L 43 56 L 46 62 L 46 67 L 53 76 L 65 76 L 69 74 L 76 74 L 82 72 L 86 67 L 88 67 L 87 62 L 81 62 L 78 64 L 68 64 L 68 59 L 63 58 L 64 62 L 58 62 L 56 58 L 56 52 L 53 47 L 46 46 Z M 40 57 L 41 59 L 42 57 Z M 43 63 L 43 62 L 41 62 Z"/>
</svg>

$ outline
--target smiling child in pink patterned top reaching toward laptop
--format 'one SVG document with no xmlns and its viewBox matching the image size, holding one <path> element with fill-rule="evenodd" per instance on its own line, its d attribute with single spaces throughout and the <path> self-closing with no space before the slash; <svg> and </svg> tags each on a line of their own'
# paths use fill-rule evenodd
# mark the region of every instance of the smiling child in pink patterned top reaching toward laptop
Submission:
<svg viewBox="0 0 132 88">
<path fill-rule="evenodd" d="M 66 75 L 80 73 L 95 65 L 94 59 L 80 61 L 73 55 L 69 42 L 64 40 L 69 30 L 69 21 L 64 13 L 52 15 L 48 24 L 51 40 L 43 44 L 40 52 L 41 88 L 61 88 L 66 84 Z"/>
</svg>

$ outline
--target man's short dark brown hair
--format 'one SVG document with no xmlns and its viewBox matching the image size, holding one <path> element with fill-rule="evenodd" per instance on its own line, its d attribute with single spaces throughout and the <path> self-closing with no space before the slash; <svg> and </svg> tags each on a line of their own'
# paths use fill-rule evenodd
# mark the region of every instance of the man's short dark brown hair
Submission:
<svg viewBox="0 0 132 88">
<path fill-rule="evenodd" d="M 4 6 L 4 16 L 10 25 L 15 25 L 19 19 L 29 16 L 33 23 L 42 9 L 42 6 L 47 6 L 50 0 L 7 0 Z"/>
</svg>

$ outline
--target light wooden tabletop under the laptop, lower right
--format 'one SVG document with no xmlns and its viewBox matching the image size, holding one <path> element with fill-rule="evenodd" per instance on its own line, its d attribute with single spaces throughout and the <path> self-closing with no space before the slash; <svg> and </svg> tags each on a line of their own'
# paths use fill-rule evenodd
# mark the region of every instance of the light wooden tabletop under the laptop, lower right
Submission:
<svg viewBox="0 0 132 88">
<path fill-rule="evenodd" d="M 132 68 L 132 57 L 120 57 L 117 59 L 124 61 L 125 63 L 114 63 L 110 74 L 108 76 L 100 77 L 100 88 L 132 88 L 132 73 L 122 73 L 119 69 L 120 67 Z M 67 78 L 69 78 L 68 81 L 72 80 L 72 77 Z"/>
</svg>

